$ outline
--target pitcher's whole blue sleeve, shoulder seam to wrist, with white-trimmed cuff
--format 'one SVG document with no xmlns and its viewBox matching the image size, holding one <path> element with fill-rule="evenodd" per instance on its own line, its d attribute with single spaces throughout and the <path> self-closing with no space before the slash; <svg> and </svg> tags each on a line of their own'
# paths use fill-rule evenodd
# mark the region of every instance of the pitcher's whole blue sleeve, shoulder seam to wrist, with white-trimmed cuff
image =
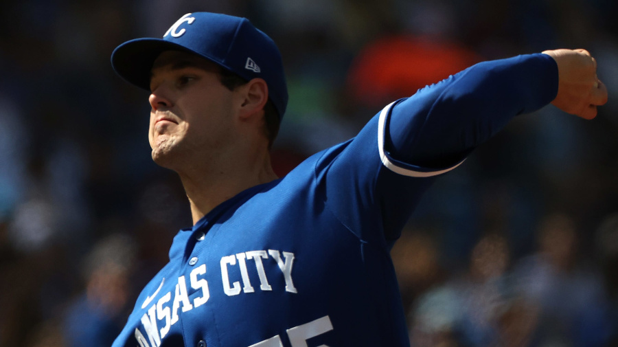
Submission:
<svg viewBox="0 0 618 347">
<path fill-rule="evenodd" d="M 473 65 L 389 104 L 317 164 L 326 207 L 361 240 L 391 246 L 435 177 L 557 91 L 556 62 L 531 54 Z"/>
</svg>

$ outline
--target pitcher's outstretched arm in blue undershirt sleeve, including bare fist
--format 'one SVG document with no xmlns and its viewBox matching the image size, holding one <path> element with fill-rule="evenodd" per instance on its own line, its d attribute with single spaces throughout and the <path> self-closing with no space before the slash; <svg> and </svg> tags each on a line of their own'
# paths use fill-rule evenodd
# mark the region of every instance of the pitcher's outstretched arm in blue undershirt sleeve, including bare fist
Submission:
<svg viewBox="0 0 618 347">
<path fill-rule="evenodd" d="M 385 148 L 399 161 L 444 168 L 512 117 L 550 102 L 567 113 L 595 117 L 596 106 L 607 100 L 595 60 L 583 49 L 543 53 L 479 63 L 400 102 L 389 120 Z"/>
</svg>

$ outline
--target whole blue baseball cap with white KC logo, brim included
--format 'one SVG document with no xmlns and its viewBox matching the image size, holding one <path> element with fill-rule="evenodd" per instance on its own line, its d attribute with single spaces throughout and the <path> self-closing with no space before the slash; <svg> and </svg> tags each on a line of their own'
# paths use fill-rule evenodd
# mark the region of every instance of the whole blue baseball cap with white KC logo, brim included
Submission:
<svg viewBox="0 0 618 347">
<path fill-rule="evenodd" d="M 181 50 L 196 54 L 228 69 L 245 80 L 262 78 L 268 98 L 283 118 L 288 87 L 275 42 L 248 19 L 210 12 L 187 13 L 163 38 L 136 38 L 119 45 L 111 64 L 120 77 L 150 90 L 152 63 L 163 51 Z"/>
</svg>

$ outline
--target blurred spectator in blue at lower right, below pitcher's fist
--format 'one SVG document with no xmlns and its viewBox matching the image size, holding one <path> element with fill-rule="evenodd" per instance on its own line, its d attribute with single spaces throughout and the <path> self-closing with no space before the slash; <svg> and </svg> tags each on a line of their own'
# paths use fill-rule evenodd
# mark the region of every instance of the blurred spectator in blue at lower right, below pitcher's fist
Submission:
<svg viewBox="0 0 618 347">
<path fill-rule="evenodd" d="M 610 333 L 608 300 L 599 273 L 577 258 L 577 226 L 565 214 L 540 223 L 538 252 L 519 261 L 518 290 L 538 307 L 541 346 L 605 346 Z"/>
</svg>

